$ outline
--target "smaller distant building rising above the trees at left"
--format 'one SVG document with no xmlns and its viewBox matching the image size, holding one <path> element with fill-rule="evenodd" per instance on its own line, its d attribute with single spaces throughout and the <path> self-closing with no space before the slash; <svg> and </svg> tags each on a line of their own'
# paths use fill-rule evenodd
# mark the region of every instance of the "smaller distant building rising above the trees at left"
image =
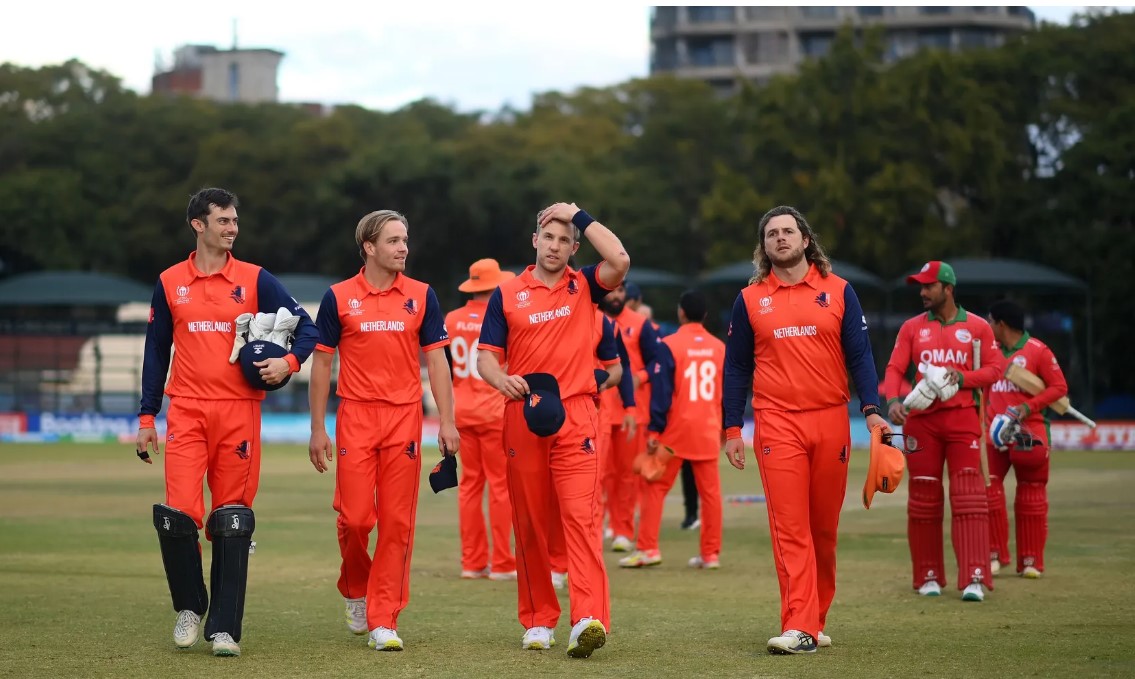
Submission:
<svg viewBox="0 0 1135 679">
<path fill-rule="evenodd" d="M 284 52 L 269 49 L 217 49 L 188 44 L 174 51 L 170 68 L 158 66 L 154 94 L 190 94 L 213 101 L 242 103 L 279 100 L 276 82 Z"/>
</svg>

